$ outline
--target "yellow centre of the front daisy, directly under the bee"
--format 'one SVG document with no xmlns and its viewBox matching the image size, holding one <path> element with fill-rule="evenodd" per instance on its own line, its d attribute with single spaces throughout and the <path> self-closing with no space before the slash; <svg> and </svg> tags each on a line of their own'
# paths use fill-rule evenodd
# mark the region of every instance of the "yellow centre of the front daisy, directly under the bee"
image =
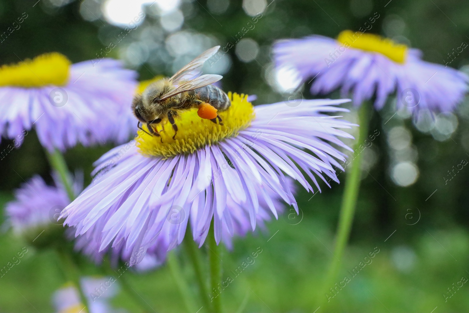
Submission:
<svg viewBox="0 0 469 313">
<path fill-rule="evenodd" d="M 228 92 L 228 97 L 231 100 L 231 107 L 224 112 L 218 112 L 223 120 L 223 126 L 200 118 L 197 115 L 197 108 L 180 111 L 176 119 L 178 131 L 175 139 L 173 139 L 174 130 L 167 119 L 157 126 L 161 138 L 150 136 L 142 130 L 138 131 L 136 142 L 140 153 L 168 158 L 178 154 L 194 153 L 206 145 L 237 136 L 238 132 L 248 127 L 254 119 L 254 107 L 248 102 L 247 95 Z"/>
</svg>

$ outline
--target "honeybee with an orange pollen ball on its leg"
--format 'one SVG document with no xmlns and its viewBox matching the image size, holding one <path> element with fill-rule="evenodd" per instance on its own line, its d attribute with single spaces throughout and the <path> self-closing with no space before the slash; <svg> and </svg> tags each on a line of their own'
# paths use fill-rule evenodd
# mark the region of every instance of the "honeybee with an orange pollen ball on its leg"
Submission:
<svg viewBox="0 0 469 313">
<path fill-rule="evenodd" d="M 174 139 L 178 130 L 174 117 L 178 116 L 178 111 L 192 107 L 199 108 L 197 114 L 201 118 L 210 119 L 214 123 L 217 123 L 218 119 L 219 125 L 223 125 L 217 112 L 227 110 L 231 101 L 224 91 L 212 85 L 223 76 L 199 76 L 205 61 L 219 48 L 220 46 L 215 46 L 208 49 L 173 76 L 152 83 L 142 94 L 137 94 L 132 101 L 132 111 L 138 119 L 137 127 L 145 131 L 140 126 L 140 123 L 144 123 L 151 135 L 160 137 L 153 126 L 167 118 L 173 126 Z"/>
</svg>

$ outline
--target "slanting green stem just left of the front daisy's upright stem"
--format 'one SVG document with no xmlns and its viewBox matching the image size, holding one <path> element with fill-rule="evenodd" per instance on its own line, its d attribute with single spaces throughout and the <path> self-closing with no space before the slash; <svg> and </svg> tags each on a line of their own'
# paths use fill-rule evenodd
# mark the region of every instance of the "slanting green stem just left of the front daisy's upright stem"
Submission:
<svg viewBox="0 0 469 313">
<path fill-rule="evenodd" d="M 196 242 L 192 239 L 192 232 L 190 226 L 187 226 L 186 235 L 184 236 L 184 250 L 186 251 L 189 259 L 194 267 L 194 273 L 196 275 L 197 284 L 199 285 L 200 298 L 205 307 L 206 312 L 212 312 L 212 304 L 209 301 L 209 291 L 206 282 L 206 276 L 202 268 L 202 258 L 200 250 L 197 247 Z"/>
</svg>

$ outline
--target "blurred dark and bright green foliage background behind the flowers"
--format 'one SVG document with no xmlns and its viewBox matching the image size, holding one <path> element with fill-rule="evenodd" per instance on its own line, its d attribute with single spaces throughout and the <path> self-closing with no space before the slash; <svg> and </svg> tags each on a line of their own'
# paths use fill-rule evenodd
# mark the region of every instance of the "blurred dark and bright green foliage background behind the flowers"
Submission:
<svg viewBox="0 0 469 313">
<path fill-rule="evenodd" d="M 28 14 L 21 28 L 0 43 L 1 63 L 17 62 L 19 58 L 32 58 L 49 51 L 64 53 L 73 62 L 92 59 L 105 47 L 98 39 L 100 29 L 115 28 L 119 32 L 118 28 L 103 20 L 92 23 L 84 21 L 79 14 L 80 1 L 72 1 L 61 8 L 48 5 L 47 0 L 36 1 L 0 1 L 0 32 L 10 27 L 23 12 Z M 185 2 L 182 4 L 186 5 Z M 215 16 L 223 24 L 222 27 L 208 14 L 205 1 L 196 0 L 190 5 L 193 12 L 186 18 L 183 29 L 210 34 L 222 45 L 250 20 L 242 10 L 241 1 L 231 1 L 224 14 Z M 371 14 L 363 17 L 356 17 L 352 7 L 360 10 L 360 1 L 272 1 L 256 28 L 249 33 L 249 37 L 260 46 L 257 61 L 243 63 L 231 49 L 228 53 L 233 64 L 224 75 L 224 89 L 257 94 L 259 104 L 285 99 L 273 92 L 263 79 L 265 68 L 271 61 L 270 46 L 274 40 L 313 33 L 335 37 L 344 29 L 358 29 L 373 12 L 378 12 L 381 17 L 373 24 L 372 32 L 384 34 L 386 17 L 398 15 L 406 24 L 404 36 L 408 44 L 421 49 L 426 61 L 442 64 L 446 53 L 459 47 L 463 41 L 469 42 L 469 3 L 466 0 L 375 0 Z M 144 23 L 151 23 L 151 17 Z M 116 51 L 111 55 L 118 57 Z M 468 63 L 469 52 L 465 50 L 451 66 L 460 68 Z M 141 79 L 156 74 L 172 74 L 169 67 L 149 68 L 139 68 Z M 305 90 L 309 90 L 308 86 Z M 305 96 L 313 98 L 308 92 Z M 370 129 L 383 133 L 374 144 L 379 152 L 378 163 L 362 181 L 341 274 L 347 275 L 347 271 L 356 267 L 375 247 L 380 252 L 327 306 L 317 312 L 436 313 L 469 310 L 467 285 L 457 290 L 447 302 L 443 296 L 448 292 L 447 288 L 459 282 L 462 276 L 469 277 L 469 172 L 464 169 L 447 185 L 443 178 L 453 165 L 469 158 L 464 148 L 469 146 L 468 105 L 461 105 L 459 126 L 452 135 L 454 140 L 444 142 L 419 133 L 409 119 L 392 120 L 383 127 L 383 122 L 392 115 L 391 104 L 382 112 L 374 113 Z M 407 188 L 396 186 L 389 178 L 389 148 L 384 135 L 386 127 L 400 124 L 412 130 L 419 154 L 417 164 L 420 177 Z M 2 140 L 0 151 L 9 143 Z M 96 148 L 78 146 L 66 153 L 66 160 L 72 171 L 83 169 L 89 183 L 91 163 L 110 148 L 110 145 Z M 31 131 L 20 149 L 15 149 L 0 160 L 0 207 L 13 198 L 12 191 L 23 183 L 23 178 L 27 180 L 36 173 L 51 181 L 45 154 Z M 343 180 L 344 176 L 340 175 L 340 179 Z M 268 223 L 266 229 L 236 239 L 233 251 L 224 250 L 222 266 L 225 277 L 257 247 L 263 249 L 256 262 L 223 291 L 226 312 L 317 310 L 317 294 L 322 287 L 325 269 L 333 258 L 330 251 L 333 250 L 333 234 L 342 193 L 342 185 L 334 183 L 332 189 L 325 185 L 322 187 L 323 192 L 314 198 L 305 191 L 299 191 L 298 203 L 303 214 L 295 222 L 282 216 L 278 221 Z M 416 208 L 421 218 L 415 225 L 408 225 L 417 220 Z M 406 219 L 409 212 L 415 214 L 411 222 L 408 216 Z M 296 221 L 296 225 L 291 225 Z M 11 231 L 2 232 L 0 267 L 6 265 L 25 245 Z M 58 270 L 56 257 L 52 252 L 40 252 L 32 247 L 28 249 L 21 263 L 0 278 L 1 312 L 53 311 L 51 295 L 65 282 Z M 407 254 L 402 254 L 402 251 Z M 179 253 L 178 257 L 183 264 L 184 277 L 196 295 L 195 280 L 186 257 L 183 253 Z M 407 260 L 408 263 L 413 260 L 412 266 L 403 270 L 399 266 L 400 260 Z M 89 275 L 100 273 L 84 259 L 82 266 Z M 130 272 L 125 275 L 156 312 L 185 310 L 166 266 L 145 275 Z M 197 307 L 194 307 L 194 312 L 201 306 L 197 298 L 195 301 Z M 124 293 L 113 300 L 113 305 L 129 312 L 140 310 Z"/>
</svg>

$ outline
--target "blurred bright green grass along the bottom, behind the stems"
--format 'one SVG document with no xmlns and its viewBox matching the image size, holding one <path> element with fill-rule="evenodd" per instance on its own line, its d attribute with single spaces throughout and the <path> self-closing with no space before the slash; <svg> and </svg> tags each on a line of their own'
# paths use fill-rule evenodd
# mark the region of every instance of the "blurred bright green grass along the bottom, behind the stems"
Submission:
<svg viewBox="0 0 469 313">
<path fill-rule="evenodd" d="M 8 198 L 11 197 L 1 195 L 3 203 Z M 268 223 L 267 229 L 236 239 L 233 251 L 223 250 L 220 255 L 223 280 L 227 276 L 234 279 L 221 292 L 225 312 L 315 312 L 318 309 L 318 293 L 322 291 L 325 270 L 333 258 L 330 251 L 333 250 L 334 223 L 326 217 L 336 213 L 339 203 L 332 192 L 324 192 L 308 201 L 309 198 L 310 194 L 300 192 L 299 206 L 304 216 L 298 224 L 291 225 L 298 220 L 288 222 L 281 216 L 278 221 Z M 361 198 L 362 204 L 363 201 L 366 202 Z M 411 227 L 418 230 L 409 238 Z M 466 272 L 468 232 L 458 227 L 419 227 L 419 223 L 413 226 L 402 223 L 387 240 L 387 236 L 354 240 L 348 246 L 340 273 L 340 277 L 348 275 L 351 281 L 316 312 L 431 312 L 435 308 L 433 312 L 468 311 L 465 285 L 447 302 L 443 297 L 447 288 L 459 282 L 462 276 L 469 277 Z M 10 232 L 3 234 L 0 265 L 6 265 L 24 245 Z M 259 247 L 262 252 L 255 262 L 235 276 L 232 271 Z M 371 259 L 371 264 L 352 277 L 348 271 L 358 266 L 375 247 L 379 252 Z M 402 247 L 410 251 L 407 253 L 413 255 L 412 260 L 408 256 L 406 259 L 405 253 L 396 252 Z M 51 295 L 65 282 L 56 266 L 55 255 L 35 251 L 32 247 L 28 249 L 21 263 L 0 278 L 1 312 L 53 312 Z M 178 251 L 178 256 L 183 276 L 198 305 L 196 312 L 202 304 L 197 298 L 195 278 L 182 250 Z M 100 275 L 89 263 L 83 268 L 87 275 Z M 186 311 L 166 265 L 147 274 L 128 271 L 123 275 L 156 312 Z M 337 279 L 337 282 L 342 280 Z M 122 289 L 112 304 L 129 312 L 141 312 Z M 204 308 L 200 310 L 203 311 Z"/>
</svg>

